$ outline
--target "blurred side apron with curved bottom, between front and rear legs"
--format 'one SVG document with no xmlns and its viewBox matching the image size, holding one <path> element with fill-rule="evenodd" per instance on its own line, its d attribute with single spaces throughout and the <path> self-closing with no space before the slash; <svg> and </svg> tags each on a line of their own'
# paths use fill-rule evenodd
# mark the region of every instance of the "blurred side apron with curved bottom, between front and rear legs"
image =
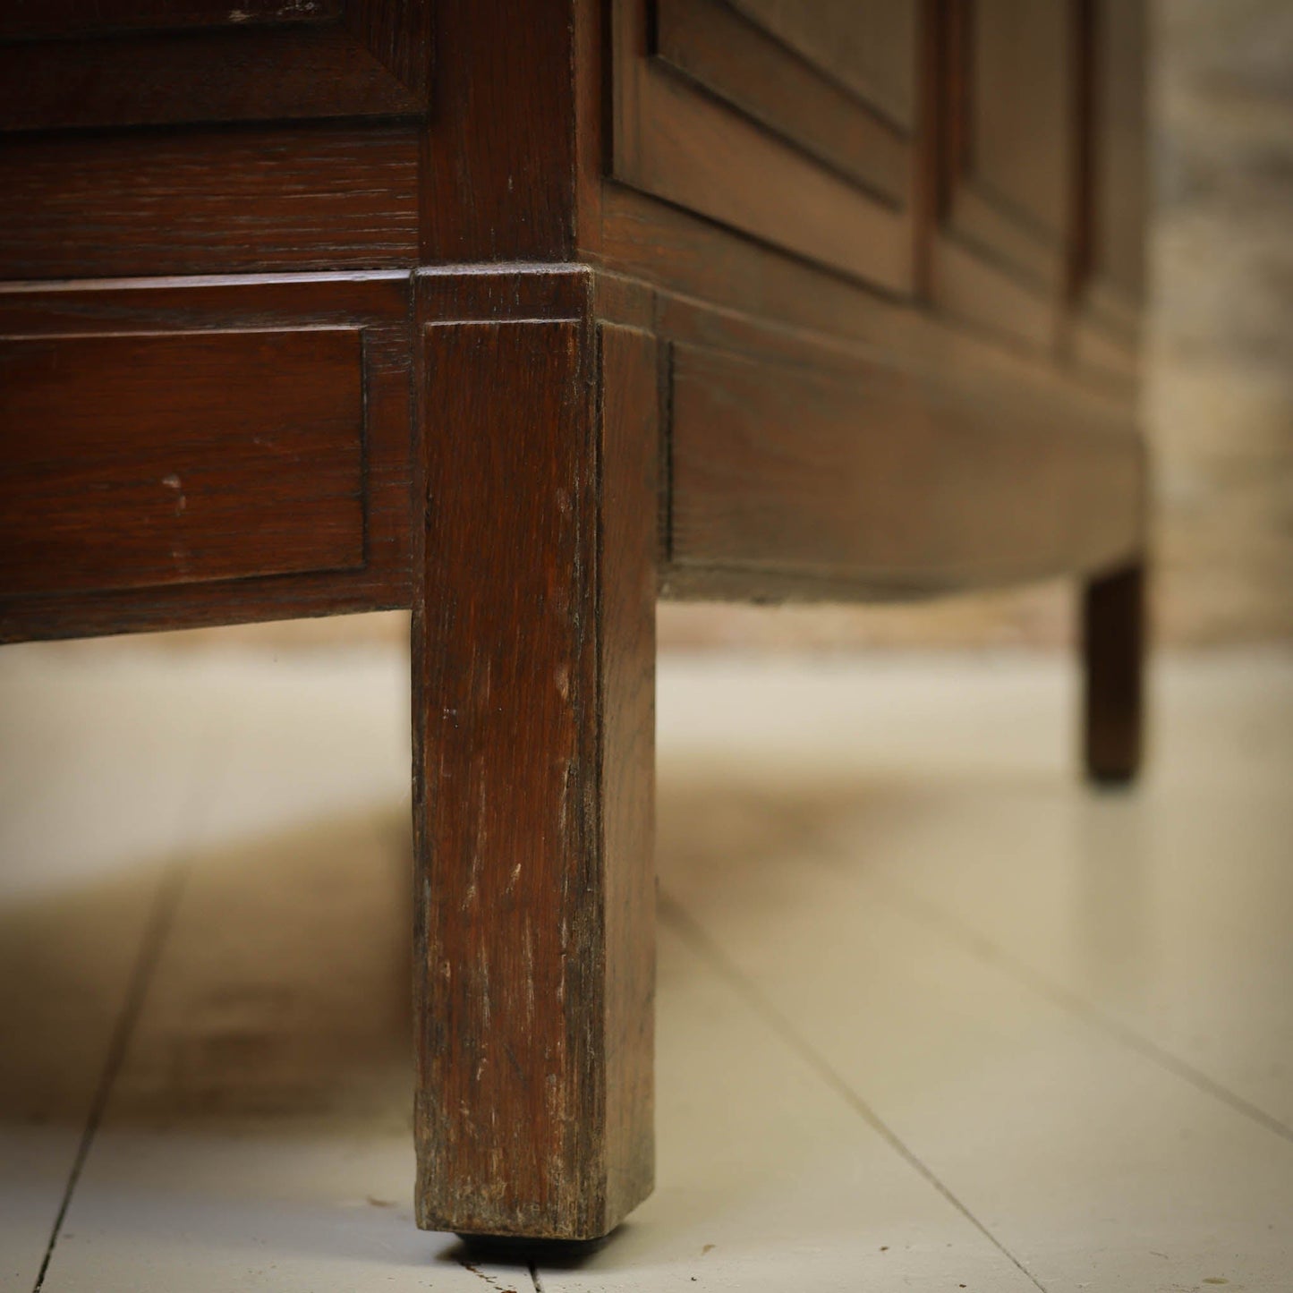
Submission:
<svg viewBox="0 0 1293 1293">
<path fill-rule="evenodd" d="M 666 593 L 891 596 L 1099 569 L 1140 539 L 1130 423 L 879 366 L 676 345 Z"/>
</svg>

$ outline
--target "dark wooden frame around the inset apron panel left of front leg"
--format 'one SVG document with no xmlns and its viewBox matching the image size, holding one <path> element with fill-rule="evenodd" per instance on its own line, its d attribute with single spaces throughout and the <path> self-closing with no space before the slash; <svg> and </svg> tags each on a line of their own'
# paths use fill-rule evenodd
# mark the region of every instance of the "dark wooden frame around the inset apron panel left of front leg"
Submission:
<svg viewBox="0 0 1293 1293">
<path fill-rule="evenodd" d="M 0 331 L 57 336 L 349 325 L 363 345 L 365 564 L 0 606 L 0 643 L 406 609 L 411 599 L 409 274 L 209 275 L 0 284 Z"/>
</svg>

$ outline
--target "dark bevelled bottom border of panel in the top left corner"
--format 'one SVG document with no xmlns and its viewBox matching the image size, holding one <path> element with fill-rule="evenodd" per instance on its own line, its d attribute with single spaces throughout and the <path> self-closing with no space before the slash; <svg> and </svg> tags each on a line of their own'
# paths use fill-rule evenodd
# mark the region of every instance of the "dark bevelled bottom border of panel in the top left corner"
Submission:
<svg viewBox="0 0 1293 1293">
<path fill-rule="evenodd" d="M 247 23 L 234 8 L 220 22 L 211 6 L 119 5 L 56 39 L 0 34 L 0 129 L 418 115 L 431 6 L 344 0 L 310 22 Z"/>
</svg>

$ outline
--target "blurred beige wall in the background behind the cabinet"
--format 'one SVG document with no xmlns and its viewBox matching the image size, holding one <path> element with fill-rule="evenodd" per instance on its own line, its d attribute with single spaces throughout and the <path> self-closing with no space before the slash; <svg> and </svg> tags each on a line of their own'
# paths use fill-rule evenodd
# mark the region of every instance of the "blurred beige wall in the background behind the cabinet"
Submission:
<svg viewBox="0 0 1293 1293">
<path fill-rule="evenodd" d="M 1144 415 L 1155 617 L 1177 646 L 1293 641 L 1293 0 L 1156 0 Z M 661 606 L 661 646 L 1068 643 L 1069 586 L 917 606 Z M 217 630 L 272 648 L 403 637 L 406 617 Z M 207 632 L 168 641 L 202 645 Z"/>
</svg>

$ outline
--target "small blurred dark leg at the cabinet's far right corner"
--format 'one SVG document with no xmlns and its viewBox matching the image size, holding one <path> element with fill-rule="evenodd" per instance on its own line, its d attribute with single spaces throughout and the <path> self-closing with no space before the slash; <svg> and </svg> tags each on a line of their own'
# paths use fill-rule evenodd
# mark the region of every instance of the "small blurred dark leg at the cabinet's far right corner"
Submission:
<svg viewBox="0 0 1293 1293">
<path fill-rule="evenodd" d="M 1082 597 L 1086 771 L 1125 785 L 1140 769 L 1144 727 L 1144 564 L 1102 575 Z"/>
</svg>

